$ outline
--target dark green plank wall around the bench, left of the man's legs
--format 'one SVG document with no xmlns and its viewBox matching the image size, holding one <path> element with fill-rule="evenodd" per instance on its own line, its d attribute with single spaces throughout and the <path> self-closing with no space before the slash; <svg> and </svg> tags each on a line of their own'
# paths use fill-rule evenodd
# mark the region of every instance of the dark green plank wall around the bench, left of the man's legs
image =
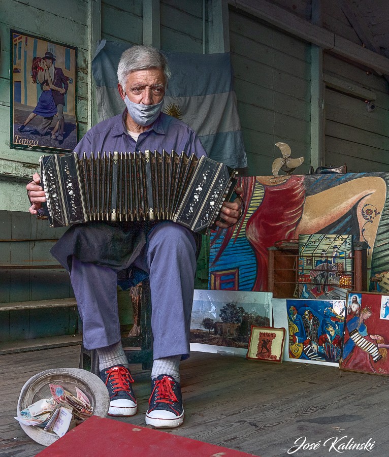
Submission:
<svg viewBox="0 0 389 457">
<path fill-rule="evenodd" d="M 64 229 L 50 228 L 27 212 L 0 211 L 2 265 L 56 265 L 50 249 Z M 13 241 L 4 241 L 13 240 Z M 74 297 L 64 269 L 2 270 L 0 303 Z M 0 342 L 72 335 L 78 327 L 75 307 L 2 311 Z"/>
</svg>

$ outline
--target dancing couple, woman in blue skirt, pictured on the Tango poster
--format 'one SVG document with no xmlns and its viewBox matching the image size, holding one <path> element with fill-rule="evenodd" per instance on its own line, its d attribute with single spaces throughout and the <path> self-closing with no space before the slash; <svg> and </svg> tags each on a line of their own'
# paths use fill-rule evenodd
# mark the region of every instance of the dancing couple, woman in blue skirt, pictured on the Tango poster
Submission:
<svg viewBox="0 0 389 457">
<path fill-rule="evenodd" d="M 35 109 L 28 115 L 27 119 L 18 128 L 23 132 L 26 125 L 36 116 L 42 116 L 38 128 L 29 130 L 29 134 L 45 136 L 51 125 L 54 116 L 57 118 L 55 127 L 51 130 L 51 139 L 63 143 L 64 118 L 63 107 L 65 105 L 65 94 L 68 91 L 68 78 L 63 74 L 62 69 L 54 66 L 55 58 L 51 52 L 46 52 L 43 57 L 34 57 L 31 66 L 31 77 L 34 84 L 40 84 L 42 93 Z"/>
</svg>

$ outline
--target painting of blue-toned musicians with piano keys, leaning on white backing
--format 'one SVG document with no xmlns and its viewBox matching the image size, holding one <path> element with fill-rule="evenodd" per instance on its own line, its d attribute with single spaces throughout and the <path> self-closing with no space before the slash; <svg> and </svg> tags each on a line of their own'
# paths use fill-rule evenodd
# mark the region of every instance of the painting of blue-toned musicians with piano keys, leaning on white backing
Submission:
<svg viewBox="0 0 389 457">
<path fill-rule="evenodd" d="M 345 301 L 286 300 L 289 360 L 338 364 Z"/>
</svg>

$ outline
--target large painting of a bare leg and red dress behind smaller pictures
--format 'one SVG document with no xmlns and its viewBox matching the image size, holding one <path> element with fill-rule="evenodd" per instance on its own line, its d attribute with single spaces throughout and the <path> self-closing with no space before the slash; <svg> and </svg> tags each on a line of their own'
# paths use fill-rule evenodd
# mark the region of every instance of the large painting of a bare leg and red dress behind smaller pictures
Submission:
<svg viewBox="0 0 389 457">
<path fill-rule="evenodd" d="M 389 173 L 240 178 L 244 217 L 212 234 L 210 288 L 269 290 L 268 248 L 320 233 L 365 241 L 368 275 L 379 275 L 389 292 L 388 182 Z"/>
</svg>

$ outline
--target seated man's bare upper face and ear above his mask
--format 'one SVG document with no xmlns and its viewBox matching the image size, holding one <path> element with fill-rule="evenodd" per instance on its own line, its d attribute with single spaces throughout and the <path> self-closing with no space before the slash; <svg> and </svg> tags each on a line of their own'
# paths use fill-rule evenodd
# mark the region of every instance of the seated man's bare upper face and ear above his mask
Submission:
<svg viewBox="0 0 389 457">
<path fill-rule="evenodd" d="M 131 72 L 126 79 L 125 92 L 120 84 L 118 89 L 122 100 L 127 94 L 133 103 L 156 105 L 164 98 L 165 83 L 164 71 L 160 68 L 150 68 Z"/>
</svg>

